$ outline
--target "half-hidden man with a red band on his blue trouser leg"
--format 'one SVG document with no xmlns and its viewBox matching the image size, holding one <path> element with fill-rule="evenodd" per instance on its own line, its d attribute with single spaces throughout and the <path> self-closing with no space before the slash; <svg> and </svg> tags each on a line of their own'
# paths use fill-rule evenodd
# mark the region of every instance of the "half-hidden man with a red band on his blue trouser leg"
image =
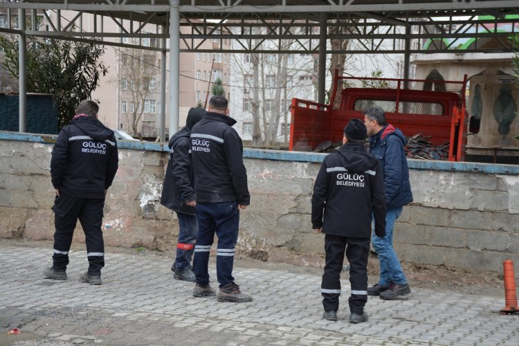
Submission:
<svg viewBox="0 0 519 346">
<path fill-rule="evenodd" d="M 170 138 L 170 158 L 162 188 L 161 204 L 176 212 L 179 219 L 179 238 L 171 270 L 176 280 L 194 282 L 191 258 L 197 242 L 197 202 L 193 189 L 193 165 L 189 136 L 192 127 L 206 114 L 202 108 L 191 108 L 185 127 Z"/>
</svg>

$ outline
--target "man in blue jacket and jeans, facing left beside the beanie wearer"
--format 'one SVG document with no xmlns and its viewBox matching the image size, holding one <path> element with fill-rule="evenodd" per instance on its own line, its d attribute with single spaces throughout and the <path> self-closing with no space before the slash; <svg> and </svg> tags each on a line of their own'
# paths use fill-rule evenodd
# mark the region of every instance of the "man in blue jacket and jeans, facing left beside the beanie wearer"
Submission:
<svg viewBox="0 0 519 346">
<path fill-rule="evenodd" d="M 388 124 L 385 112 L 379 107 L 366 109 L 364 123 L 370 136 L 370 154 L 375 156 L 384 172 L 384 188 L 388 212 L 385 216 L 385 237 L 372 235 L 372 244 L 379 255 L 379 282 L 367 289 L 368 295 L 381 299 L 397 299 L 408 295 L 411 289 L 403 274 L 397 253 L 393 248 L 393 228 L 402 213 L 402 207 L 412 202 L 406 152 L 406 138 L 402 131 Z"/>
</svg>

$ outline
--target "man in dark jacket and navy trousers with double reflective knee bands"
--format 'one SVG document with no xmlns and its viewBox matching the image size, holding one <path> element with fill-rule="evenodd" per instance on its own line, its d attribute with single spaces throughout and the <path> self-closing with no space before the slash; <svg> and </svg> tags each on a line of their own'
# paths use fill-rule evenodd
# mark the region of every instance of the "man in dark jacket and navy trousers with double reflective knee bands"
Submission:
<svg viewBox="0 0 519 346">
<path fill-rule="evenodd" d="M 215 295 L 209 285 L 209 251 L 215 237 L 217 247 L 217 278 L 220 302 L 250 302 L 233 277 L 235 246 L 238 239 L 239 210 L 250 203 L 247 172 L 243 163 L 242 139 L 228 116 L 224 96 L 209 100 L 208 113 L 191 130 L 194 163 L 194 191 L 197 195 L 199 233 L 194 246 L 193 271 L 196 285 L 193 295 Z"/>
</svg>

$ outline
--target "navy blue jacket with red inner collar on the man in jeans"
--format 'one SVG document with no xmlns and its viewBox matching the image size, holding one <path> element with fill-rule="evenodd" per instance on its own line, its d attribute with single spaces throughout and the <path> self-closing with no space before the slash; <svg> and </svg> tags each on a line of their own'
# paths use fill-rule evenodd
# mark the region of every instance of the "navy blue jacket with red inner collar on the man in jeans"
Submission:
<svg viewBox="0 0 519 346">
<path fill-rule="evenodd" d="M 406 137 L 402 131 L 390 124 L 370 137 L 370 153 L 383 167 L 388 209 L 412 202 L 408 161 L 403 149 L 405 144 Z"/>
</svg>

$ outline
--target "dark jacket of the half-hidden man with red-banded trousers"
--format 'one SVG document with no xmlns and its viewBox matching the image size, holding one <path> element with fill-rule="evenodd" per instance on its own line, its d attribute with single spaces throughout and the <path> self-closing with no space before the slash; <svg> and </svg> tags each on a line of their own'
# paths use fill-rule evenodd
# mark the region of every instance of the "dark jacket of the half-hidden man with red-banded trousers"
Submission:
<svg viewBox="0 0 519 346">
<path fill-rule="evenodd" d="M 167 145 L 171 152 L 167 161 L 161 204 L 182 214 L 196 215 L 197 209 L 185 204 L 195 200 L 189 136 L 190 131 L 183 127 L 170 138 Z"/>
</svg>

